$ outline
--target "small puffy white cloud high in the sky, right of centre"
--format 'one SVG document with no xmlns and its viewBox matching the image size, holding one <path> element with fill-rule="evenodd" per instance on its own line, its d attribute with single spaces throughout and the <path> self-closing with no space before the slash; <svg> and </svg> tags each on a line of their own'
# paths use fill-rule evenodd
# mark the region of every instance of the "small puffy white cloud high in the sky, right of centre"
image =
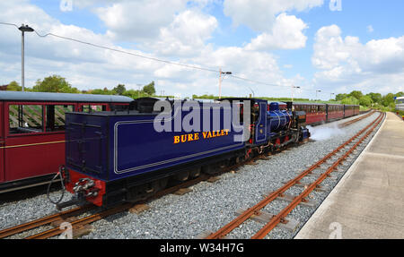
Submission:
<svg viewBox="0 0 404 257">
<path fill-rule="evenodd" d="M 263 32 L 246 46 L 250 50 L 297 49 L 306 46 L 308 26 L 294 15 L 281 13 L 271 32 Z"/>
</svg>

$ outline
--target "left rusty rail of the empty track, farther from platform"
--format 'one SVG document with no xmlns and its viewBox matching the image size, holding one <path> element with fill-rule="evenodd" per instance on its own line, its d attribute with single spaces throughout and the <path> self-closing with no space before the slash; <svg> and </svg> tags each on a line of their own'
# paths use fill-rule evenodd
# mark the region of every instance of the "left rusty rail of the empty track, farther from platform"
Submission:
<svg viewBox="0 0 404 257">
<path fill-rule="evenodd" d="M 378 117 L 380 118 L 382 114 Z M 300 180 L 310 174 L 312 170 L 316 169 L 317 167 L 320 167 L 322 163 L 324 163 L 327 159 L 331 158 L 333 155 L 335 155 L 339 150 L 344 148 L 347 144 L 349 144 L 351 141 L 354 141 L 360 134 L 364 133 L 369 127 L 371 127 L 372 124 L 376 122 L 378 119 L 376 118 L 371 124 L 368 124 L 363 130 L 361 130 L 359 133 L 356 133 L 352 138 L 350 138 L 348 141 L 345 143 L 341 144 L 336 150 L 333 150 L 330 152 L 328 155 L 326 155 L 324 158 L 321 158 L 321 160 L 317 161 L 312 167 L 307 168 L 304 170 L 300 175 L 296 176 L 294 179 L 291 179 L 289 182 L 284 184 L 284 186 L 280 187 L 277 189 L 275 192 L 270 193 L 265 199 L 259 201 L 255 206 L 245 210 L 240 216 L 237 218 L 234 218 L 231 222 L 229 222 L 227 225 L 224 227 L 221 227 L 219 230 L 217 230 L 215 233 L 206 236 L 206 239 L 219 239 L 230 232 L 233 231 L 234 228 L 239 227 L 244 221 L 246 221 L 248 218 L 250 218 L 253 215 L 258 215 L 259 210 L 263 209 L 265 206 L 268 205 L 269 202 L 274 201 L 277 199 L 278 196 L 282 196 L 283 193 L 285 193 L 286 190 L 294 186 L 294 184 L 299 184 Z"/>
</svg>

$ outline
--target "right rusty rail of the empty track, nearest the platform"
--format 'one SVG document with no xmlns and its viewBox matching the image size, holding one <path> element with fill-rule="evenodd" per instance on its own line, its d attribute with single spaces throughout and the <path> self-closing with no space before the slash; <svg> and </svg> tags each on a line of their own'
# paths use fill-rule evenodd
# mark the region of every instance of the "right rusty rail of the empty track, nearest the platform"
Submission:
<svg viewBox="0 0 404 257">
<path fill-rule="evenodd" d="M 384 116 L 384 115 L 383 115 Z M 338 165 L 344 161 L 351 153 L 353 150 L 356 149 L 356 147 L 362 142 L 364 141 L 364 139 L 366 137 L 369 136 L 370 133 L 373 132 L 374 128 L 380 124 L 380 122 L 382 121 L 383 116 L 378 117 L 378 121 L 376 122 L 376 124 L 373 125 L 373 127 L 364 134 L 364 136 L 362 136 L 362 138 L 356 142 L 356 144 L 354 146 L 352 146 L 350 148 L 350 150 L 347 150 L 347 152 L 341 157 L 338 158 L 337 161 L 335 161 L 331 167 L 329 167 L 327 169 L 326 172 L 324 172 L 315 182 L 313 182 L 308 188 L 306 188 L 303 193 L 299 194 L 297 197 L 294 198 L 294 201 L 292 201 L 289 205 L 287 205 L 285 207 L 284 210 L 281 210 L 279 212 L 279 214 L 277 214 L 277 216 L 273 217 L 268 223 L 267 225 L 265 225 L 265 227 L 262 227 L 259 232 L 257 234 L 255 234 L 254 236 L 251 237 L 251 239 L 262 239 L 265 236 L 268 235 L 268 233 L 277 226 L 277 224 L 279 224 L 280 222 L 282 222 L 283 219 L 285 219 L 285 217 L 292 211 L 294 210 L 294 208 L 302 201 L 304 201 L 304 198 L 307 197 L 309 195 L 309 193 L 312 193 L 312 191 L 317 187 L 317 185 L 321 184 L 321 182 L 327 177 L 329 176 L 329 174 L 334 171 L 335 168 L 338 167 Z"/>
</svg>

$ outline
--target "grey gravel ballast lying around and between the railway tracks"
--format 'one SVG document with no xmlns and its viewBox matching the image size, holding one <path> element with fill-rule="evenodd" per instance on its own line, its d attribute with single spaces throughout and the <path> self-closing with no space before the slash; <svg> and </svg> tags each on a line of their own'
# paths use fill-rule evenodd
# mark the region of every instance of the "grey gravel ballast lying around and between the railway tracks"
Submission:
<svg viewBox="0 0 404 257">
<path fill-rule="evenodd" d="M 337 124 L 348 119 L 316 126 L 311 129 L 311 133 L 312 139 L 318 141 L 310 141 L 268 159 L 261 159 L 256 165 L 240 167 L 234 174 L 226 173 L 220 176 L 220 180 L 215 183 L 196 184 L 190 187 L 193 191 L 185 195 L 163 196 L 149 202 L 150 209 L 139 215 L 124 212 L 92 223 L 94 230 L 82 238 L 196 238 L 206 230 L 215 231 L 235 218 L 235 210 L 256 204 L 262 200 L 264 193 L 281 187 L 284 182 L 294 178 L 299 170 L 304 170 L 307 165 L 312 165 L 336 149 L 376 116 L 378 114 L 373 114 L 345 129 L 338 129 Z M 369 140 L 370 138 L 366 141 Z M 327 178 L 323 185 L 329 190 L 325 193 L 312 193 L 311 199 L 318 201 L 320 205 L 342 176 L 343 173 L 337 180 Z M 294 188 L 286 193 L 297 194 L 301 191 Z M 51 193 L 52 199 L 57 199 L 59 195 L 58 192 Z M 64 200 L 70 197 L 71 195 L 66 193 Z M 285 201 L 273 201 L 265 211 L 277 212 L 286 205 Z M 267 237 L 293 238 L 316 208 L 298 206 L 288 216 L 300 221 L 298 229 L 289 232 L 276 227 Z M 48 202 L 46 195 L 18 202 L 0 203 L 0 229 L 55 212 L 56 208 Z M 261 227 L 258 222 L 248 220 L 229 236 L 250 238 Z"/>
</svg>

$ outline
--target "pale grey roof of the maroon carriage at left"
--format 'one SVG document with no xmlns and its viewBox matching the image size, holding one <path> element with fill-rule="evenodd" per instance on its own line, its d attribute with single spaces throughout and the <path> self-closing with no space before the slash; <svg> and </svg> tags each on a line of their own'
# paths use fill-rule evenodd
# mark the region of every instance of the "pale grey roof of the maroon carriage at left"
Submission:
<svg viewBox="0 0 404 257">
<path fill-rule="evenodd" d="M 0 101 L 129 103 L 133 101 L 133 99 L 124 96 L 112 96 L 112 95 L 0 91 Z"/>
</svg>

